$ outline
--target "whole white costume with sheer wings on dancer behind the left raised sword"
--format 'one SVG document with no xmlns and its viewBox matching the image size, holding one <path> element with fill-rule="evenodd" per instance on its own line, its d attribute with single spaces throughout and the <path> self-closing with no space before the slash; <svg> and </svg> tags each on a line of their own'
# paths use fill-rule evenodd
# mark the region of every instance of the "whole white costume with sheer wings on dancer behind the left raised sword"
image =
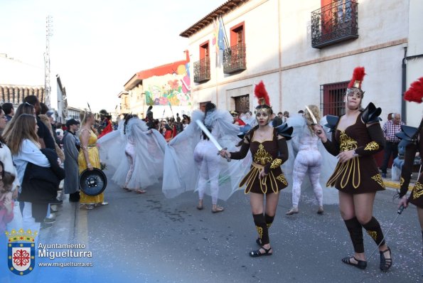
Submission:
<svg viewBox="0 0 423 283">
<path fill-rule="evenodd" d="M 204 190 L 212 196 L 213 201 L 215 198 L 226 201 L 238 189 L 240 179 L 250 167 L 251 156 L 227 162 L 218 156 L 218 149 L 212 142 L 203 139 L 201 129 L 194 122 L 197 119 L 203 121 L 204 113 L 196 110 L 191 119 L 193 122 L 166 146 L 162 188 L 164 195 L 173 198 L 195 189 Z M 208 112 L 204 120 L 205 127 L 212 129 L 211 134 L 220 146 L 228 150 L 235 150 L 236 144 L 240 142 L 237 137 L 240 127 L 232 124 L 232 121 L 229 112 L 223 110 Z"/>
</svg>

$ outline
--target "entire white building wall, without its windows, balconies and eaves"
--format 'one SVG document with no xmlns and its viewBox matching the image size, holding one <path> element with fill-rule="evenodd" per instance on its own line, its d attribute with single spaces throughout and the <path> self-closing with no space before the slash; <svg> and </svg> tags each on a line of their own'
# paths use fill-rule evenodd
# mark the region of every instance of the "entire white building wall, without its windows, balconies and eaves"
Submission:
<svg viewBox="0 0 423 283">
<path fill-rule="evenodd" d="M 363 82 L 363 106 L 374 102 L 382 107 L 381 117 L 386 119 L 390 112 L 401 112 L 405 46 L 409 45 L 407 55 L 412 55 L 410 46 L 414 53 L 423 53 L 422 5 L 419 0 L 359 1 L 359 38 L 316 49 L 311 47 L 311 11 L 321 7 L 320 0 L 249 1 L 223 16 L 228 37 L 232 26 L 245 22 L 247 70 L 225 75 L 223 66 L 216 66 L 213 25 L 189 38 L 191 74 L 200 44 L 209 41 L 210 45 L 211 79 L 198 84 L 191 78 L 194 107 L 211 100 L 230 110 L 234 105 L 228 94 L 237 88 L 247 92 L 248 86 L 252 90 L 264 80 L 274 111 L 296 112 L 305 104 L 319 105 L 321 85 L 350 80 L 353 69 L 362 65 L 368 74 Z M 407 64 L 408 85 L 422 76 L 422 60 Z M 250 94 L 250 109 L 256 105 Z M 410 117 L 421 117 L 422 107 L 407 108 L 410 123 Z"/>
</svg>

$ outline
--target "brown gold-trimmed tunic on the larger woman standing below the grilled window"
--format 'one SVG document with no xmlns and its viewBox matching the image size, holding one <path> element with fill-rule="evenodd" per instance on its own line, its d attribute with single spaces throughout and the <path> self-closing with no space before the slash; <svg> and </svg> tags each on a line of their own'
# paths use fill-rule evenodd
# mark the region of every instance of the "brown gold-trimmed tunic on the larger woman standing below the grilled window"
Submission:
<svg viewBox="0 0 423 283">
<path fill-rule="evenodd" d="M 370 127 L 358 114 L 355 124 L 341 131 L 336 124 L 336 131 L 332 134 L 332 142 L 323 145 L 334 156 L 341 151 L 355 150 L 357 157 L 336 164 L 335 171 L 329 178 L 326 186 L 335 186 L 345 193 L 369 193 L 385 190 L 385 184 L 380 176 L 378 165 L 373 154 L 383 149 L 383 133 L 380 124 L 375 123 Z M 341 120 L 341 119 L 339 119 Z M 338 120 L 338 122 L 339 122 Z"/>
</svg>

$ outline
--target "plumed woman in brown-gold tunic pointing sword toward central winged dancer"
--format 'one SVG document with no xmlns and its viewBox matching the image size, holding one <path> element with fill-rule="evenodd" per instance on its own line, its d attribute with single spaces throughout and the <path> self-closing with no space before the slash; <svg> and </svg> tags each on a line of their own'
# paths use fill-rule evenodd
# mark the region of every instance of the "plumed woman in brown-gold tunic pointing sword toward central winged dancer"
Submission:
<svg viewBox="0 0 423 283">
<path fill-rule="evenodd" d="M 223 150 L 220 155 L 230 159 L 244 159 L 248 149 L 251 151 L 251 169 L 242 179 L 240 187 L 245 185 L 245 193 L 250 193 L 252 217 L 259 234 L 256 242 L 260 248 L 250 252 L 250 256 L 260 257 L 272 255 L 273 252 L 268 229 L 276 214 L 279 191 L 288 186 L 280 166 L 288 159 L 287 139 L 291 139 L 292 128 L 287 127 L 287 124 L 277 128 L 269 126 L 272 108 L 263 82 L 256 85 L 255 95 L 259 98 L 259 106 L 255 110 L 258 125 L 245 135 L 240 151 L 229 153 Z"/>
</svg>

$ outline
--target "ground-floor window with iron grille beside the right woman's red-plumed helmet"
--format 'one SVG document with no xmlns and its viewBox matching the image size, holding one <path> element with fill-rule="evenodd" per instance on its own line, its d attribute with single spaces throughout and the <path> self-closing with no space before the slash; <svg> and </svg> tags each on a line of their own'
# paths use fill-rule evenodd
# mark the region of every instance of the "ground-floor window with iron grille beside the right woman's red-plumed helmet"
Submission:
<svg viewBox="0 0 423 283">
<path fill-rule="evenodd" d="M 344 97 L 347 87 L 348 81 L 320 86 L 320 105 L 323 116 L 341 116 L 342 114 L 345 114 Z"/>
</svg>

